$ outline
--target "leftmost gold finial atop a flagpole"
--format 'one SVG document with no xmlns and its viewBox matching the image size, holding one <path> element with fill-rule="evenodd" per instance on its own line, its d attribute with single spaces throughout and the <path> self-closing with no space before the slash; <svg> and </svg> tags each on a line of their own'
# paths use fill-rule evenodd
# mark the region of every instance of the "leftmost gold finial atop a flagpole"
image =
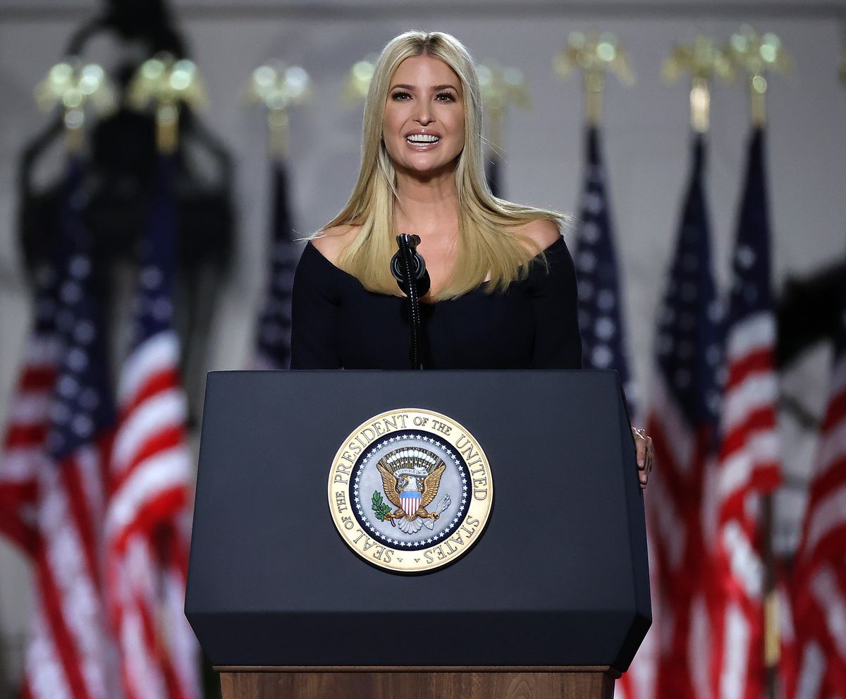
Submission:
<svg viewBox="0 0 846 699">
<path fill-rule="evenodd" d="M 62 107 L 68 149 L 72 152 L 79 152 L 85 142 L 85 111 L 106 116 L 116 107 L 114 89 L 105 71 L 96 63 L 83 64 L 77 58 L 54 65 L 36 85 L 35 94 L 38 107 L 44 112 Z"/>
</svg>

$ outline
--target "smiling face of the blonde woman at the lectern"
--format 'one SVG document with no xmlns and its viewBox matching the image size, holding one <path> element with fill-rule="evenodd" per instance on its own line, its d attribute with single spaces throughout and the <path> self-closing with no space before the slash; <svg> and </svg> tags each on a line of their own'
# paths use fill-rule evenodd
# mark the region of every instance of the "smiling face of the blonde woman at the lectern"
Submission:
<svg viewBox="0 0 846 699">
<path fill-rule="evenodd" d="M 382 137 L 398 170 L 452 169 L 464 148 L 464 93 L 453 69 L 425 54 L 400 63 L 387 92 Z"/>
</svg>

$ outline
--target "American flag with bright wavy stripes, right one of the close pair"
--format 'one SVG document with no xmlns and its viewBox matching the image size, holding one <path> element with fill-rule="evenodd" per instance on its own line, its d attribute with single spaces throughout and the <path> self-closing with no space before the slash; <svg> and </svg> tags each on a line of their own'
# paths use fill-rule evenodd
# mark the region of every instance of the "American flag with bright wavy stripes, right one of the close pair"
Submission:
<svg viewBox="0 0 846 699">
<path fill-rule="evenodd" d="M 738 234 L 726 340 L 722 444 L 717 472 L 719 576 L 715 625 L 719 696 L 758 699 L 763 691 L 764 568 L 760 496 L 779 482 L 776 430 L 775 314 L 770 289 L 770 230 L 764 132 L 753 130 Z"/>
</svg>

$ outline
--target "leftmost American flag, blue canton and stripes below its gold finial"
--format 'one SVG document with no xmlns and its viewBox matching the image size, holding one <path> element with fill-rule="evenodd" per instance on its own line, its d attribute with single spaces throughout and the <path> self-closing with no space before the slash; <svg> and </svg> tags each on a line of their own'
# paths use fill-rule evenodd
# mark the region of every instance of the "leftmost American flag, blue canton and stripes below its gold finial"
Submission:
<svg viewBox="0 0 846 699">
<path fill-rule="evenodd" d="M 82 166 L 74 157 L 63 212 L 66 255 L 57 279 L 59 305 L 50 305 L 52 285 L 47 283 L 37 311 L 36 338 L 46 343 L 41 349 L 53 342 L 53 328 L 47 321 L 50 311 L 55 313 L 60 338 L 52 390 L 47 383 L 53 350 L 44 356 L 31 355 L 29 360 L 30 367 L 44 372 L 40 390 L 29 394 L 38 406 L 32 413 L 38 424 L 33 425 L 34 439 L 26 444 L 30 463 L 35 464 L 37 495 L 32 548 L 36 605 L 24 680 L 24 696 L 33 699 L 113 696 L 101 553 L 114 409 L 106 337 L 81 218 L 85 206 L 81 180 Z M 46 422 L 45 405 L 49 405 Z M 40 443 L 43 426 L 47 430 Z"/>
</svg>

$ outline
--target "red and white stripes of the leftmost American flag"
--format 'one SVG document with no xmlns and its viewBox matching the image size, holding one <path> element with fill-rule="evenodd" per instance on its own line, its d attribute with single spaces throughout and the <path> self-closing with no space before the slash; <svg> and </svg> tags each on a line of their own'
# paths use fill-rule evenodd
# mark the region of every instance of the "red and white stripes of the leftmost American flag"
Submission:
<svg viewBox="0 0 846 699">
<path fill-rule="evenodd" d="M 62 464 L 47 456 L 58 338 L 30 337 L 0 456 L 0 531 L 30 558 L 35 609 L 24 696 L 110 699 L 100 571 L 107 442 Z"/>
</svg>

